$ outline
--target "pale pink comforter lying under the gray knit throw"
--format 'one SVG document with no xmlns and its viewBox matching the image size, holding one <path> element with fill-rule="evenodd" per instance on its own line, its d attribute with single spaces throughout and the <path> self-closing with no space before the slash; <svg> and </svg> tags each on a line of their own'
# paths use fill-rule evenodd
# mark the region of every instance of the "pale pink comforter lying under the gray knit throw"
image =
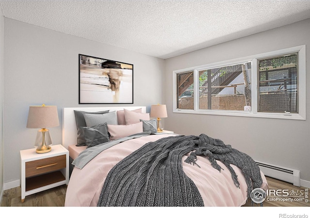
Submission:
<svg viewBox="0 0 310 218">
<path fill-rule="evenodd" d="M 82 169 L 75 167 L 67 187 L 65 206 L 96 206 L 106 176 L 114 165 L 145 143 L 168 136 L 171 135 L 149 135 L 127 140 L 101 152 Z M 217 161 L 223 169 L 219 172 L 204 156 L 197 156 L 196 163 L 201 168 L 185 163 L 186 157 L 182 158 L 183 169 L 199 189 L 205 206 L 241 206 L 246 203 L 248 187 L 243 174 L 237 167 L 232 165 L 238 175 L 240 188 L 234 185 L 230 171 L 221 162 Z M 265 188 L 266 178 L 262 172 L 261 174 L 262 188 Z"/>
</svg>

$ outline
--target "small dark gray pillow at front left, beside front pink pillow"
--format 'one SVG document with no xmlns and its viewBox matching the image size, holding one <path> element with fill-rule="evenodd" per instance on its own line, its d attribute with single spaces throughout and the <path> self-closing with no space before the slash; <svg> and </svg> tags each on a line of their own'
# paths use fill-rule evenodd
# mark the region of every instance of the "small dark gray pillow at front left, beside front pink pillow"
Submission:
<svg viewBox="0 0 310 218">
<path fill-rule="evenodd" d="M 87 147 L 93 147 L 109 141 L 107 123 L 95 125 L 93 127 L 83 127 L 83 132 Z"/>
</svg>

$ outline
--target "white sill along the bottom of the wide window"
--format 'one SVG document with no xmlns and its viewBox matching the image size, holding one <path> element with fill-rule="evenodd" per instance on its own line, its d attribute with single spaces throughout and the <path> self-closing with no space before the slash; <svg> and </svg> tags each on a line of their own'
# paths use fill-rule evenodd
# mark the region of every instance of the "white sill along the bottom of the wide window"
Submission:
<svg viewBox="0 0 310 218">
<path fill-rule="evenodd" d="M 173 113 L 192 113 L 192 114 L 208 114 L 220 116 L 238 116 L 238 117 L 257 117 L 257 118 L 273 118 L 286 120 L 306 120 L 306 115 L 302 116 L 298 113 L 266 113 L 266 112 L 246 112 L 246 111 L 221 111 L 221 110 L 188 110 L 188 109 L 174 109 Z"/>
</svg>

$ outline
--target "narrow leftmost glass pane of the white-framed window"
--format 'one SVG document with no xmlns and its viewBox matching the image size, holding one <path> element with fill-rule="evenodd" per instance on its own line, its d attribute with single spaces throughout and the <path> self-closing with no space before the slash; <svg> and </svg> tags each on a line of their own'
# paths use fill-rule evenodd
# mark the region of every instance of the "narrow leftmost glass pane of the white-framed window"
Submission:
<svg viewBox="0 0 310 218">
<path fill-rule="evenodd" d="M 177 108 L 194 109 L 194 72 L 177 74 Z"/>
</svg>

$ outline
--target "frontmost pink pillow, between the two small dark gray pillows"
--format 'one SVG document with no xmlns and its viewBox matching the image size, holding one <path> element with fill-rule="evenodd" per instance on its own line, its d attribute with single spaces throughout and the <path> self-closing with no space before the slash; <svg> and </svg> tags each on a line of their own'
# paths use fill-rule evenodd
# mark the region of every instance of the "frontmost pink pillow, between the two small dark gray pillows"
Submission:
<svg viewBox="0 0 310 218">
<path fill-rule="evenodd" d="M 132 125 L 108 125 L 110 140 L 117 140 L 126 136 L 143 132 L 143 123 L 139 122 Z"/>
</svg>

